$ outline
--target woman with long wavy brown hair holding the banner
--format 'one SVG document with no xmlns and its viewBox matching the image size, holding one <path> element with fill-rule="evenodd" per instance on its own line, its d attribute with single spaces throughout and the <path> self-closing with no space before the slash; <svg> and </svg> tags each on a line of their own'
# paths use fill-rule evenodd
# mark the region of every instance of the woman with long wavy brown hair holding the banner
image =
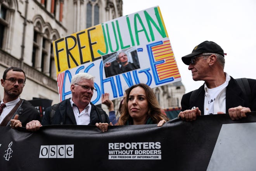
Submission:
<svg viewBox="0 0 256 171">
<path fill-rule="evenodd" d="M 128 89 L 117 125 L 157 124 L 162 126 L 168 120 L 153 90 L 148 85 L 139 83 Z M 108 125 L 96 124 L 103 132 L 107 131 Z"/>
</svg>

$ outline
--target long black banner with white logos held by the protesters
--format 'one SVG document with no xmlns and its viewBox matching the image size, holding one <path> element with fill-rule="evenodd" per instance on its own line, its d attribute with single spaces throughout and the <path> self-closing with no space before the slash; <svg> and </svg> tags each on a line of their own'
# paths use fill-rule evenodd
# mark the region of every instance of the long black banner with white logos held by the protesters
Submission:
<svg viewBox="0 0 256 171">
<path fill-rule="evenodd" d="M 0 127 L 1 171 L 255 170 L 256 112 L 153 125 Z"/>
</svg>

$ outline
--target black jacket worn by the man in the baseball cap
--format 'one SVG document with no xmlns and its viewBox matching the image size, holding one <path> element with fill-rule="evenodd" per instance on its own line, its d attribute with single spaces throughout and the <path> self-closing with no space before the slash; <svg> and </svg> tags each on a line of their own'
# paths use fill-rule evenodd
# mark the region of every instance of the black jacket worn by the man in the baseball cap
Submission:
<svg viewBox="0 0 256 171">
<path fill-rule="evenodd" d="M 249 107 L 251 111 L 256 111 L 256 79 L 248 79 L 248 82 L 251 88 L 251 96 L 246 100 L 247 97 L 244 97 L 238 83 L 231 77 L 226 89 L 226 113 L 228 113 L 228 109 L 239 105 Z M 199 107 L 201 115 L 204 115 L 204 85 L 195 91 L 197 93 L 192 99 L 190 99 L 190 96 L 193 91 L 183 95 L 181 100 L 182 111 L 195 106 Z"/>
</svg>

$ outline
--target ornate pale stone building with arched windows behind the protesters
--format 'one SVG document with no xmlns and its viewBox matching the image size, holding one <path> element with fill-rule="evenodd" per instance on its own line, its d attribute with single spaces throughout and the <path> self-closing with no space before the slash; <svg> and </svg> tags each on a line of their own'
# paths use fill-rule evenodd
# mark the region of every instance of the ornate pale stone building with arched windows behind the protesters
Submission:
<svg viewBox="0 0 256 171">
<path fill-rule="evenodd" d="M 21 67 L 27 76 L 21 98 L 58 103 L 52 42 L 120 17 L 122 7 L 122 0 L 0 0 L 0 73 Z M 154 91 L 163 108 L 180 106 L 185 93 L 181 82 Z M 116 109 L 119 101 L 114 100 Z"/>
</svg>

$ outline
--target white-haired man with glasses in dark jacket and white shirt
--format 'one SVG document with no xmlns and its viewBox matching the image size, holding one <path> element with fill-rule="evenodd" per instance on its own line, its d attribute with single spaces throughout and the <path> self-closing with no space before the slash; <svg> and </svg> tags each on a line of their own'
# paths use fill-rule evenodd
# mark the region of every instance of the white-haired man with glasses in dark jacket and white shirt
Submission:
<svg viewBox="0 0 256 171">
<path fill-rule="evenodd" d="M 71 79 L 70 90 L 72 97 L 57 105 L 48 107 L 43 116 L 42 125 L 73 124 L 95 125 L 95 123 L 109 123 L 106 112 L 93 105 L 91 101 L 94 88 L 94 77 L 88 73 L 78 73 Z M 42 126 L 38 121 L 31 121 L 26 125 L 29 131 L 36 131 Z"/>
</svg>

